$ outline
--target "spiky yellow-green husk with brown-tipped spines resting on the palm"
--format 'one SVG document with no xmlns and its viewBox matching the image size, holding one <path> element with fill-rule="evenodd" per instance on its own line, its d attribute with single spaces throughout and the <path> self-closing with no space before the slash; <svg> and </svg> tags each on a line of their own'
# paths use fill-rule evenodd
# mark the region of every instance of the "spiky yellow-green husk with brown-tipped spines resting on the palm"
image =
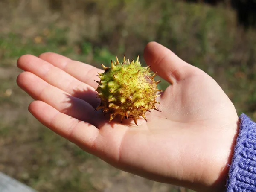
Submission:
<svg viewBox="0 0 256 192">
<path fill-rule="evenodd" d="M 111 61 L 111 67 L 105 67 L 102 64 L 104 73 L 99 73 L 100 81 L 97 88 L 98 96 L 101 99 L 100 105 L 96 110 L 102 109 L 103 112 L 110 112 L 110 119 L 115 118 L 117 114 L 121 115 L 121 122 L 124 117 L 131 118 L 137 125 L 137 119 L 142 116 L 146 121 L 145 113 L 150 109 L 157 110 L 155 104 L 158 90 L 157 84 L 160 81 L 154 81 L 156 73 L 150 72 L 150 66 L 142 67 L 139 62 L 139 56 L 133 60 L 125 60 L 120 63 Z M 148 122 L 148 121 L 147 121 Z"/>
</svg>

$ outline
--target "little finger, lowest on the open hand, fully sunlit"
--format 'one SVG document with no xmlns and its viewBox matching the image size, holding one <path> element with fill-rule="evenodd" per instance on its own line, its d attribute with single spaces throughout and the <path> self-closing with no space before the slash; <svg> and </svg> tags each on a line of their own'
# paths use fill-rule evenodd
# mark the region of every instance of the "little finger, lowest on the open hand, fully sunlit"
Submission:
<svg viewBox="0 0 256 192">
<path fill-rule="evenodd" d="M 42 101 L 32 102 L 29 112 L 55 133 L 85 148 L 92 148 L 99 134 L 99 129 L 90 123 L 61 113 Z"/>
</svg>

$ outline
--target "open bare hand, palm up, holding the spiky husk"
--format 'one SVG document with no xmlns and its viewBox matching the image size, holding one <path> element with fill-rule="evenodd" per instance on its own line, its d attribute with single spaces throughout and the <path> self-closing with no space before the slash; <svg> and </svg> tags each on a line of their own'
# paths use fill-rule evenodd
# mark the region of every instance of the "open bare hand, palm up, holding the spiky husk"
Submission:
<svg viewBox="0 0 256 192">
<path fill-rule="evenodd" d="M 17 84 L 36 101 L 29 111 L 42 124 L 111 165 L 163 183 L 197 191 L 224 191 L 239 118 L 219 85 L 155 42 L 145 61 L 170 83 L 158 97 L 161 112 L 148 123 L 94 111 L 97 72 L 88 64 L 55 54 L 23 55 Z"/>
</svg>

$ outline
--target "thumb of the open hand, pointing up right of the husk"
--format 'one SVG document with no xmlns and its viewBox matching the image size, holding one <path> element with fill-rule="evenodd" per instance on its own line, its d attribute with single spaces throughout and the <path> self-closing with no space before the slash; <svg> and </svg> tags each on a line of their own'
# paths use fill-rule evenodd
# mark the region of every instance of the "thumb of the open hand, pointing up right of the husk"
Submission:
<svg viewBox="0 0 256 192">
<path fill-rule="evenodd" d="M 159 76 L 169 83 L 184 80 L 189 74 L 195 72 L 195 67 L 187 64 L 171 50 L 156 42 L 146 45 L 144 58 L 147 65 L 151 65 L 151 69 L 157 71 Z"/>
</svg>

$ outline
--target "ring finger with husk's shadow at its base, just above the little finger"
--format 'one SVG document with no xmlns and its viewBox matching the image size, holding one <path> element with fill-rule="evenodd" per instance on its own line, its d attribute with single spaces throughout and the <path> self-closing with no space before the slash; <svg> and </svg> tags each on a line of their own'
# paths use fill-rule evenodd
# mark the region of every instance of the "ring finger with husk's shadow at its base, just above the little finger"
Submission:
<svg viewBox="0 0 256 192">
<path fill-rule="evenodd" d="M 17 84 L 33 99 L 41 100 L 62 113 L 96 125 L 93 119 L 95 112 L 91 105 L 48 84 L 35 74 L 21 73 L 17 77 Z"/>
</svg>

